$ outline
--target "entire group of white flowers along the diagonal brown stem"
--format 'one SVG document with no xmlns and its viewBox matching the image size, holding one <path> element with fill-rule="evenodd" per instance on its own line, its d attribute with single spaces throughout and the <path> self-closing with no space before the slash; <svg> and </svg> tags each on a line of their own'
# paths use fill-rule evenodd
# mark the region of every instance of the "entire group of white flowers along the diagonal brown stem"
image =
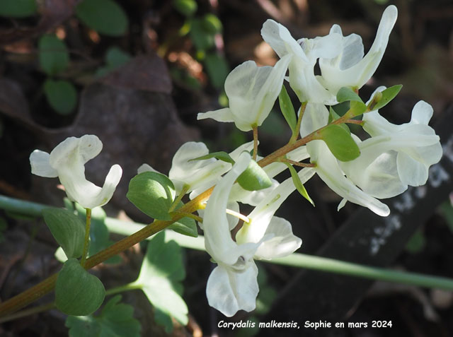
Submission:
<svg viewBox="0 0 453 337">
<path fill-rule="evenodd" d="M 300 102 L 306 105 L 300 136 L 312 134 L 328 125 L 326 105 L 338 103 L 336 97 L 340 88 L 358 90 L 372 77 L 386 49 L 396 16 L 395 6 L 386 8 L 376 39 L 365 57 L 361 37 L 343 36 L 338 25 L 333 25 L 326 36 L 294 40 L 284 26 L 267 20 L 261 34 L 280 60 L 273 67 L 258 67 L 253 61 L 237 66 L 225 82 L 229 107 L 200 113 L 198 119 L 234 122 L 242 131 L 255 129 L 270 114 L 289 71 L 286 79 Z M 314 74 L 317 62 L 320 76 Z M 380 87 L 375 93 L 383 90 L 384 87 Z M 440 160 L 440 139 L 428 126 L 431 117 L 432 107 L 423 101 L 413 108 L 411 122 L 402 125 L 391 124 L 377 110 L 366 112 L 363 129 L 369 138 L 361 141 L 352 135 L 360 149 L 360 156 L 355 160 L 338 160 L 321 139 L 290 151 L 285 160 L 300 162 L 309 158 L 312 167 L 299 171 L 300 181 L 304 184 L 314 174 L 319 175 L 343 197 L 338 208 L 350 201 L 386 216 L 389 208 L 378 199 L 401 194 L 408 185 L 425 184 L 428 168 Z M 86 208 L 101 206 L 110 200 L 121 176 L 120 167 L 114 165 L 102 189 L 86 181 L 84 164 L 96 156 L 101 147 L 96 136 L 68 138 L 50 155 L 35 150 L 30 156 L 32 172 L 43 177 L 58 176 L 69 198 Z M 252 148 L 253 142 L 245 143 L 229 153 L 234 160 L 231 164 L 216 158 L 194 160 L 208 155 L 207 146 L 185 143 L 174 155 L 168 174 L 176 193 L 190 193 L 190 199 L 215 186 L 205 210 L 199 213 L 203 218 L 205 248 L 217 263 L 207 280 L 207 299 L 226 316 L 256 307 L 258 268 L 255 259 L 287 256 L 302 244 L 302 240 L 293 235 L 291 224 L 274 216 L 296 189 L 291 178 L 281 184 L 273 179 L 287 168 L 284 163 L 276 161 L 264 167 L 265 173 L 273 179 L 272 186 L 266 189 L 246 191 L 236 182 L 252 160 L 249 154 Z M 146 164 L 139 167 L 139 173 L 145 171 L 154 170 Z M 254 209 L 246 216 L 241 215 L 239 203 L 248 203 Z M 239 223 L 239 218 L 244 223 L 233 239 L 231 230 Z"/>
</svg>

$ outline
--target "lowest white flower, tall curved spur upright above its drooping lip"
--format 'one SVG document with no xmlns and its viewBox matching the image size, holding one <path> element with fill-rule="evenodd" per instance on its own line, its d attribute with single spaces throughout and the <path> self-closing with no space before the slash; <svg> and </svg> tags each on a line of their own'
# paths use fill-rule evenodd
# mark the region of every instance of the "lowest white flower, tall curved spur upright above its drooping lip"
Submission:
<svg viewBox="0 0 453 337">
<path fill-rule="evenodd" d="M 211 307 L 228 317 L 240 309 L 248 312 L 255 309 L 258 295 L 258 268 L 253 254 L 259 244 L 236 244 L 231 239 L 225 213 L 231 186 L 250 160 L 247 153 L 240 155 L 214 188 L 203 218 L 206 251 L 218 264 L 207 280 L 207 300 Z"/>
</svg>

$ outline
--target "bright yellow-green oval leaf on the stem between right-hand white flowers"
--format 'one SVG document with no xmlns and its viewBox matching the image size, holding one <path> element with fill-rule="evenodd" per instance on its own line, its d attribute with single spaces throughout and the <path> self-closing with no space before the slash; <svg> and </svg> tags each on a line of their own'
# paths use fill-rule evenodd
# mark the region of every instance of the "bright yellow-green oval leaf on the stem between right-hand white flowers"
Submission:
<svg viewBox="0 0 453 337">
<path fill-rule="evenodd" d="M 326 142 L 331 153 L 338 160 L 347 162 L 354 160 L 360 155 L 360 150 L 352 136 L 341 126 L 331 124 L 319 131 L 319 137 Z"/>
</svg>

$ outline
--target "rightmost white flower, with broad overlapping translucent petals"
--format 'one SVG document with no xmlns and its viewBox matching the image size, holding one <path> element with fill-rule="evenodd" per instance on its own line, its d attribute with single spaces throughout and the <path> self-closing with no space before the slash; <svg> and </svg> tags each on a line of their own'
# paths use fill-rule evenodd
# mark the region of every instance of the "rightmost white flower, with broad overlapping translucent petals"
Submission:
<svg viewBox="0 0 453 337">
<path fill-rule="evenodd" d="M 406 124 L 391 124 L 377 111 L 364 114 L 363 128 L 372 137 L 358 142 L 360 157 L 341 167 L 358 187 L 377 198 L 425 184 L 429 167 L 442 157 L 440 138 L 428 126 L 431 117 L 432 107 L 423 101 L 413 107 Z"/>
</svg>

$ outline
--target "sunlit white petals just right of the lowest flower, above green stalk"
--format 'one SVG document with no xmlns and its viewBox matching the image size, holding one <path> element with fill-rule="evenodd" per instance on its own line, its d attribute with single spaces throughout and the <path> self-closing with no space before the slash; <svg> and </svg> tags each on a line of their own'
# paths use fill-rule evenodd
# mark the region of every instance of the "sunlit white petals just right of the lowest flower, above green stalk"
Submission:
<svg viewBox="0 0 453 337">
<path fill-rule="evenodd" d="M 294 253 L 302 245 L 302 240 L 292 234 L 289 221 L 274 216 L 270 220 L 265 235 L 270 240 L 263 241 L 256 250 L 256 259 L 274 259 Z"/>
</svg>

